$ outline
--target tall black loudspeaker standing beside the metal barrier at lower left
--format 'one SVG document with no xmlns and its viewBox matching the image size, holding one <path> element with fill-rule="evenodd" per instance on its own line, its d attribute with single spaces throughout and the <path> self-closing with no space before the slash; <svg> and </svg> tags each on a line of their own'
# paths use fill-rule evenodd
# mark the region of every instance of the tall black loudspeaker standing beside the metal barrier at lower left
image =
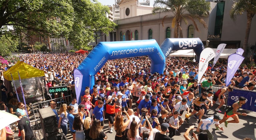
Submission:
<svg viewBox="0 0 256 140">
<path fill-rule="evenodd" d="M 56 140 L 58 134 L 58 124 L 56 114 L 51 107 L 41 108 L 38 110 L 41 120 L 45 140 Z"/>
</svg>

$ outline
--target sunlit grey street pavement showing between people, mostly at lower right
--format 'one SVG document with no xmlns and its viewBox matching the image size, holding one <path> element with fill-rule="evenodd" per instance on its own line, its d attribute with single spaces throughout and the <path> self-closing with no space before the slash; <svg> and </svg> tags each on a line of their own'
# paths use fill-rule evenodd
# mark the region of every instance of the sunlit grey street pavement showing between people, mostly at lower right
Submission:
<svg viewBox="0 0 256 140">
<path fill-rule="evenodd" d="M 135 106 L 133 105 L 134 110 L 136 109 Z M 215 113 L 219 114 L 221 117 L 224 116 L 224 106 L 222 108 L 220 108 L 220 110 L 222 111 L 217 112 L 215 111 L 215 108 L 217 107 L 217 105 L 214 105 L 213 107 L 210 107 L 209 112 L 208 112 L 208 116 L 213 116 Z M 136 110 L 135 110 L 136 111 Z M 213 134 L 213 140 L 239 140 L 239 139 L 243 139 L 245 137 L 248 138 L 252 138 L 253 140 L 256 140 L 256 112 L 253 111 L 248 111 L 248 110 L 244 110 L 244 109 L 240 109 L 238 112 L 245 112 L 248 115 L 247 116 L 241 116 L 239 115 L 239 123 L 229 123 L 228 127 L 224 126 L 224 123 L 220 124 L 221 127 L 224 128 L 224 131 L 222 130 L 216 130 L 215 126 L 211 126 L 210 128 L 210 132 L 212 132 Z M 186 111 L 184 112 L 184 114 L 181 116 L 183 119 L 185 118 L 185 114 Z M 126 118 L 126 116 L 124 116 Z M 207 117 L 204 117 L 202 119 L 205 119 Z M 232 120 L 232 118 L 229 118 L 228 120 Z M 196 127 L 198 126 L 196 119 L 193 117 L 193 115 L 191 116 L 191 118 L 189 118 L 190 123 L 187 124 L 186 122 L 184 122 L 179 130 L 179 132 L 177 132 L 177 135 L 173 137 L 173 139 L 177 139 L 177 140 L 184 140 L 184 133 L 186 132 L 186 130 L 189 128 L 189 126 L 191 125 L 195 125 Z M 114 128 L 114 127 L 112 127 Z M 104 124 L 104 128 L 103 131 L 106 133 L 107 135 L 107 139 L 108 140 L 113 140 L 115 137 L 115 131 L 113 130 L 113 133 L 109 133 L 108 130 L 108 120 L 105 120 L 105 124 Z M 15 136 L 15 140 L 18 140 L 19 138 L 18 133 L 14 134 Z M 67 134 L 67 138 L 68 140 L 72 140 L 72 134 L 70 133 L 70 131 L 68 131 Z M 194 138 L 193 138 L 194 139 Z"/>
</svg>

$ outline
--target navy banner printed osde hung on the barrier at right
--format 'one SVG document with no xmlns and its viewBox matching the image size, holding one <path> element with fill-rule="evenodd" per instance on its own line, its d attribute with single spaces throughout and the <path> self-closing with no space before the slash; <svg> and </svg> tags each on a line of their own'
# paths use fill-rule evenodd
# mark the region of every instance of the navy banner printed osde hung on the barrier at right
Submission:
<svg viewBox="0 0 256 140">
<path fill-rule="evenodd" d="M 256 93 L 250 91 L 242 91 L 242 90 L 233 90 L 233 92 L 229 92 L 228 94 L 228 105 L 231 106 L 235 102 L 239 101 L 239 97 L 246 98 L 246 104 L 242 105 L 241 108 L 251 111 L 256 111 Z"/>
</svg>

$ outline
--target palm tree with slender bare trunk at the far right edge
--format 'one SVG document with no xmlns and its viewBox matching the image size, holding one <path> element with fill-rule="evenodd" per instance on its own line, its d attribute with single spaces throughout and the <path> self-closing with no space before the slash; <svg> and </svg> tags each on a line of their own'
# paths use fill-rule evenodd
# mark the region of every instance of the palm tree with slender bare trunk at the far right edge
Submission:
<svg viewBox="0 0 256 140">
<path fill-rule="evenodd" d="M 243 12 L 246 12 L 247 15 L 247 24 L 245 30 L 244 44 L 243 49 L 245 55 L 247 53 L 248 47 L 248 38 L 250 35 L 252 18 L 256 14 L 256 0 L 236 0 L 230 10 L 230 17 L 235 21 L 237 15 L 242 15 Z M 249 52 L 249 51 L 248 51 Z"/>
</svg>

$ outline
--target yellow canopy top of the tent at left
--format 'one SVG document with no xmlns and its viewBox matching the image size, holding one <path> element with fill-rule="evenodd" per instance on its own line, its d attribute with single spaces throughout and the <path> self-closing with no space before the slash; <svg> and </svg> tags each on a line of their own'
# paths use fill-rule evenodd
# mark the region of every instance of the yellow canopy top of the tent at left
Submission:
<svg viewBox="0 0 256 140">
<path fill-rule="evenodd" d="M 22 61 L 18 61 L 10 69 L 4 72 L 4 78 L 9 81 L 12 81 L 12 77 L 13 77 L 13 80 L 19 80 L 18 72 L 20 74 L 20 79 L 44 76 L 44 71 L 34 68 Z M 12 74 L 12 77 L 11 77 L 11 74 Z"/>
</svg>

